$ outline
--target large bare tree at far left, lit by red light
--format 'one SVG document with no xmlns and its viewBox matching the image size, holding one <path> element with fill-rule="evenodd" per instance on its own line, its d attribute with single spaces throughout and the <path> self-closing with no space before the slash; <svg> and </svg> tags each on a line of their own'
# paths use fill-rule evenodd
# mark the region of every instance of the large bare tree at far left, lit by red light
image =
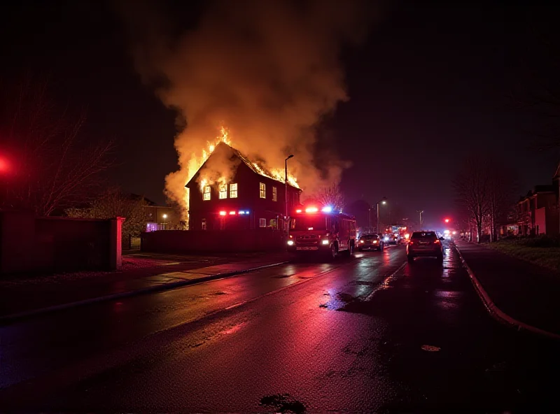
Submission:
<svg viewBox="0 0 560 414">
<path fill-rule="evenodd" d="M 51 215 L 90 201 L 113 165 L 112 141 L 87 142 L 85 113 L 55 105 L 46 80 L 28 76 L 4 92 L 0 145 L 11 168 L 0 207 Z"/>
</svg>

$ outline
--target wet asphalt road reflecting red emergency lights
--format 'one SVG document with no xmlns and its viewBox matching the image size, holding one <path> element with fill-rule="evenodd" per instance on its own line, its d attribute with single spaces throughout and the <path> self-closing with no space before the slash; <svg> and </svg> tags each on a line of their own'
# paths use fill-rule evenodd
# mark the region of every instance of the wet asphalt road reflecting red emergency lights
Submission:
<svg viewBox="0 0 560 414">
<path fill-rule="evenodd" d="M 559 350 L 400 246 L 0 327 L 0 410 L 559 412 Z"/>
</svg>

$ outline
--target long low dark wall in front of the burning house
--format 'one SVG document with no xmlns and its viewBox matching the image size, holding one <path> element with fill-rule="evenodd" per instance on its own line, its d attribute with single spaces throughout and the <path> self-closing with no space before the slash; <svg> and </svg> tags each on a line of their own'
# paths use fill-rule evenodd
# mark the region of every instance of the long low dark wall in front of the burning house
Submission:
<svg viewBox="0 0 560 414">
<path fill-rule="evenodd" d="M 152 231 L 141 235 L 144 252 L 260 252 L 286 250 L 281 230 Z"/>
</svg>

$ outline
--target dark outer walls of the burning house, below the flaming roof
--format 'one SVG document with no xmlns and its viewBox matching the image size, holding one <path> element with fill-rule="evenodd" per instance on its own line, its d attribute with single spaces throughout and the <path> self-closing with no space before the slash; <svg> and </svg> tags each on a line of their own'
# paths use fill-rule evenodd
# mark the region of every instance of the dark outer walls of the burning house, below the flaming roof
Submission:
<svg viewBox="0 0 560 414">
<path fill-rule="evenodd" d="M 237 198 L 230 198 L 230 183 L 237 183 Z M 207 223 L 207 230 L 224 229 L 257 229 L 260 219 L 266 220 L 271 227 L 271 220 L 283 216 L 286 210 L 284 184 L 260 176 L 244 163 L 239 164 L 235 177 L 228 183 L 228 197 L 219 198 L 218 185 L 211 185 L 210 200 L 204 201 L 200 185 L 194 183 L 189 187 L 189 229 L 202 230 L 202 220 Z M 260 198 L 259 184 L 265 184 L 265 198 Z M 272 187 L 276 187 L 276 201 L 272 200 Z M 288 185 L 288 201 L 290 210 L 299 204 L 300 190 Z M 239 210 L 248 211 L 248 215 L 239 215 Z M 221 216 L 220 211 L 226 215 Z M 235 211 L 235 215 L 230 215 Z M 274 222 L 273 222 L 274 224 Z M 281 227 L 281 224 L 280 224 Z"/>
</svg>

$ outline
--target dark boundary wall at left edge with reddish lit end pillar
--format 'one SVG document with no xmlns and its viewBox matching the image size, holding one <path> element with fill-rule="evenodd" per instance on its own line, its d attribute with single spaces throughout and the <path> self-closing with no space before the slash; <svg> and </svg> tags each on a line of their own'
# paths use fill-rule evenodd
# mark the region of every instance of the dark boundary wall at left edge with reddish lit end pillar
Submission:
<svg viewBox="0 0 560 414">
<path fill-rule="evenodd" d="M 0 273 L 118 269 L 122 222 L 2 211 Z"/>
</svg>

